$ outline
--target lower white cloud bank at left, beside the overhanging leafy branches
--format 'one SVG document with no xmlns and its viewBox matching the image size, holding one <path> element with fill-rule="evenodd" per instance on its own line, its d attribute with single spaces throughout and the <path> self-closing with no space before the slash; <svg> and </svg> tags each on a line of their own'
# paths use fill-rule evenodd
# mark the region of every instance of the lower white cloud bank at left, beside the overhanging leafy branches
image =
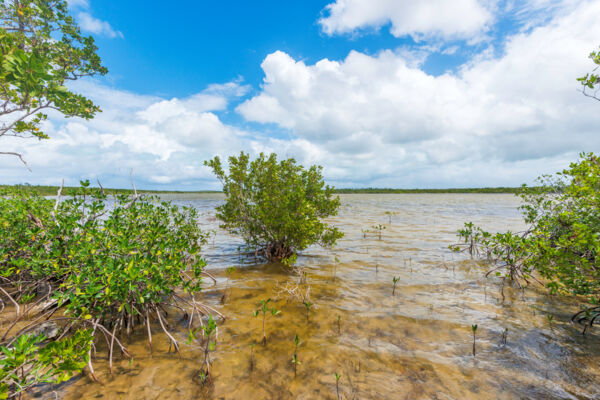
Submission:
<svg viewBox="0 0 600 400">
<path fill-rule="evenodd" d="M 44 125 L 50 140 L 3 139 L 3 148 L 22 152 L 33 171 L 16 158 L 0 157 L 3 183 L 58 184 L 65 178 L 73 185 L 99 178 L 105 186 L 126 187 L 133 170 L 138 187 L 218 188 L 204 160 L 252 147 L 246 132 L 215 114 L 247 91 L 237 82 L 182 99 L 137 95 L 89 80 L 72 89 L 103 111 L 90 121 L 51 115 Z"/>
</svg>

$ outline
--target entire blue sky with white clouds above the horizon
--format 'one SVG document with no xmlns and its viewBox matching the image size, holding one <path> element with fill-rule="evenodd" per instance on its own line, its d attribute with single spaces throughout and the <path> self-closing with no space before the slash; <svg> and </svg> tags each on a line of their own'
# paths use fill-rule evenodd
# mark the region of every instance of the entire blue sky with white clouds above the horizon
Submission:
<svg viewBox="0 0 600 400">
<path fill-rule="evenodd" d="M 203 162 L 275 152 L 336 187 L 531 184 L 600 151 L 600 1 L 71 0 L 109 73 L 49 140 L 0 139 L 0 183 L 220 189 Z"/>
</svg>

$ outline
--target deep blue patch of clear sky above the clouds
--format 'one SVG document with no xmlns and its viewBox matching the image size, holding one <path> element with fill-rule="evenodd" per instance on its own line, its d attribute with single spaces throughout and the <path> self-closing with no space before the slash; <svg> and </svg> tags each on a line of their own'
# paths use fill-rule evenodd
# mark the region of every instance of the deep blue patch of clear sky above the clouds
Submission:
<svg viewBox="0 0 600 400">
<path fill-rule="evenodd" d="M 412 42 L 386 30 L 327 36 L 317 23 L 327 1 L 182 1 L 180 12 L 168 3 L 148 4 L 90 4 L 94 16 L 124 35 L 124 40 L 97 38 L 110 68 L 107 81 L 136 93 L 185 97 L 239 77 L 257 88 L 264 76 L 261 62 L 277 50 L 312 63 L 342 59 L 351 50 L 374 53 Z"/>
</svg>

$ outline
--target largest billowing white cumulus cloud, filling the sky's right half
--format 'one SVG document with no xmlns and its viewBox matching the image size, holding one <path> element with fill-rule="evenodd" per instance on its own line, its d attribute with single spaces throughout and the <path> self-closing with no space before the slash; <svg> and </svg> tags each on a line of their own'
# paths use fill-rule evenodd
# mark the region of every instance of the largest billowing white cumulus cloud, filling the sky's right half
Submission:
<svg viewBox="0 0 600 400">
<path fill-rule="evenodd" d="M 575 80 L 592 68 L 598 18 L 600 2 L 581 2 L 440 76 L 389 50 L 312 65 L 278 51 L 262 63 L 262 91 L 237 110 L 319 146 L 326 171 L 347 182 L 531 181 L 600 149 L 598 104 Z"/>
</svg>

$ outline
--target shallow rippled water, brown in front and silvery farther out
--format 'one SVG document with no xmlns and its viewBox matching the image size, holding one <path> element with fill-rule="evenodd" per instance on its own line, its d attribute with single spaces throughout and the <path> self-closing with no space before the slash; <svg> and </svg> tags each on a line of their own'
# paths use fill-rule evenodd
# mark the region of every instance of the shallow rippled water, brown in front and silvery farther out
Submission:
<svg viewBox="0 0 600 400">
<path fill-rule="evenodd" d="M 94 360 L 102 385 L 82 376 L 37 396 L 65 399 L 336 399 L 334 373 L 344 399 L 580 399 L 600 398 L 598 337 L 582 337 L 569 323 L 575 301 L 543 289 L 505 289 L 484 278 L 484 265 L 451 253 L 464 221 L 490 231 L 524 228 L 513 195 L 343 195 L 331 222 L 346 234 L 332 252 L 309 248 L 299 258 L 310 286 L 309 313 L 279 293 L 299 276 L 280 265 L 240 257 L 241 242 L 217 229 L 220 195 L 175 196 L 202 213 L 216 235 L 206 246 L 208 271 L 203 301 L 227 316 L 218 332 L 213 385 L 196 378 L 200 344 L 182 345 L 181 358 L 154 326 L 151 356 L 143 332 L 128 343 L 134 361 L 108 373 L 102 352 Z M 395 213 L 391 216 L 386 211 Z M 385 225 L 381 239 L 362 229 Z M 339 263 L 334 261 L 337 256 Z M 225 268 L 236 266 L 228 282 Z M 334 277 L 335 271 L 335 279 Z M 395 295 L 392 278 L 400 277 Z M 307 285 L 301 284 L 306 289 Z M 229 289 L 228 289 L 229 288 Z M 227 292 L 225 303 L 221 303 Z M 281 314 L 269 317 L 268 343 L 252 316 L 260 299 L 274 299 Z M 549 321 L 547 315 L 553 316 Z M 339 316 L 339 325 L 338 325 Z M 182 342 L 184 323 L 171 315 Z M 476 356 L 471 325 L 477 324 Z M 508 328 L 507 344 L 501 345 Z M 595 332 L 593 332 L 595 333 Z M 298 349 L 294 376 L 294 336 Z"/>
</svg>

